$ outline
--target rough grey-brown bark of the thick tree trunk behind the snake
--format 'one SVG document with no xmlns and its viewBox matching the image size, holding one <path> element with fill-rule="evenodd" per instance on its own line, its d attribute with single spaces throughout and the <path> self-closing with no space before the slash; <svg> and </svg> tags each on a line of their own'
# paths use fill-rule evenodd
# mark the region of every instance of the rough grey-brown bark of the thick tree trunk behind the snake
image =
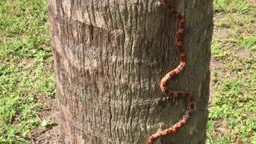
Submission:
<svg viewBox="0 0 256 144">
<path fill-rule="evenodd" d="M 186 68 L 170 90 L 192 94 L 196 110 L 158 143 L 205 143 L 212 0 L 170 0 L 186 18 Z M 65 143 L 146 143 L 172 126 L 184 99 L 162 98 L 161 78 L 178 65 L 178 20 L 161 0 L 50 0 L 58 107 Z"/>
</svg>

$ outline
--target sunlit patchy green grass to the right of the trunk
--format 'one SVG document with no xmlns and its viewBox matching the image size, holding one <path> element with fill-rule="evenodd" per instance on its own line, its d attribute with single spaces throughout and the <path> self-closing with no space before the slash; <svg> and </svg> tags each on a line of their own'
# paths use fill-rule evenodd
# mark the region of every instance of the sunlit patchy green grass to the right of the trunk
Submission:
<svg viewBox="0 0 256 144">
<path fill-rule="evenodd" d="M 246 0 L 214 0 L 207 143 L 256 143 L 255 8 Z"/>
</svg>

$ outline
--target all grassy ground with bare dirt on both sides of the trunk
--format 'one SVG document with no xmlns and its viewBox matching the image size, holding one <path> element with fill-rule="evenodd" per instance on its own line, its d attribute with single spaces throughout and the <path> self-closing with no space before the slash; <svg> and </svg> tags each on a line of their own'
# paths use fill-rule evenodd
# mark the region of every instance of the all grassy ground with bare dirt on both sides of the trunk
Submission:
<svg viewBox="0 0 256 144">
<path fill-rule="evenodd" d="M 206 143 L 256 143 L 255 5 L 214 0 Z M 46 6 L 0 1 L 0 143 L 58 142 Z"/>
</svg>

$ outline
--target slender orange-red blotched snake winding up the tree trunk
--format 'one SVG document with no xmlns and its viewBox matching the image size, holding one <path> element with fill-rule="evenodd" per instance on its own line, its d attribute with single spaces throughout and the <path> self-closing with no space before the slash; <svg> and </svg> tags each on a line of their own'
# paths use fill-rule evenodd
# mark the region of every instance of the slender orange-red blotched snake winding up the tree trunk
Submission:
<svg viewBox="0 0 256 144">
<path fill-rule="evenodd" d="M 186 65 L 186 54 L 185 54 L 184 50 L 182 49 L 182 35 L 184 34 L 184 30 L 185 30 L 185 18 L 182 16 L 182 14 L 179 14 L 174 9 L 174 6 L 171 6 L 170 3 L 167 2 L 167 0 L 162 0 L 162 2 L 164 4 L 164 6 L 167 8 L 167 10 L 170 13 L 174 14 L 174 17 L 177 18 L 180 22 L 178 31 L 175 35 L 176 46 L 177 46 L 178 53 L 180 56 L 180 63 L 174 70 L 171 70 L 162 78 L 162 80 L 160 82 L 160 89 L 161 89 L 162 93 L 166 95 L 166 97 L 186 98 L 187 107 L 186 107 L 186 111 L 183 114 L 182 118 L 177 123 L 175 123 L 174 126 L 171 126 L 170 128 L 168 128 L 166 130 L 158 130 L 158 132 L 156 132 L 155 134 L 152 134 L 150 136 L 147 144 L 152 144 L 158 138 L 166 136 L 167 134 L 174 134 L 175 132 L 180 130 L 180 128 L 182 126 L 184 126 L 186 124 L 186 122 L 188 122 L 188 120 L 190 119 L 190 117 L 192 116 L 192 114 L 194 112 L 194 102 L 193 102 L 192 96 L 190 94 L 185 93 L 183 91 L 170 91 L 167 89 L 167 84 L 168 84 L 168 82 L 170 82 L 170 79 L 173 78 L 175 75 L 179 74 Z"/>
</svg>

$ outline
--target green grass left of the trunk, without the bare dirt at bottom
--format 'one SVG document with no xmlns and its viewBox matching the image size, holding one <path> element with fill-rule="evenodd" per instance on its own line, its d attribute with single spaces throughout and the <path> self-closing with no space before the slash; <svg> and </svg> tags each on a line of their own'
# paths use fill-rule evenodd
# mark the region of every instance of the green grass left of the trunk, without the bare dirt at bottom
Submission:
<svg viewBox="0 0 256 144">
<path fill-rule="evenodd" d="M 45 0 L 0 1 L 0 143 L 28 143 L 42 97 L 54 97 Z"/>
</svg>

